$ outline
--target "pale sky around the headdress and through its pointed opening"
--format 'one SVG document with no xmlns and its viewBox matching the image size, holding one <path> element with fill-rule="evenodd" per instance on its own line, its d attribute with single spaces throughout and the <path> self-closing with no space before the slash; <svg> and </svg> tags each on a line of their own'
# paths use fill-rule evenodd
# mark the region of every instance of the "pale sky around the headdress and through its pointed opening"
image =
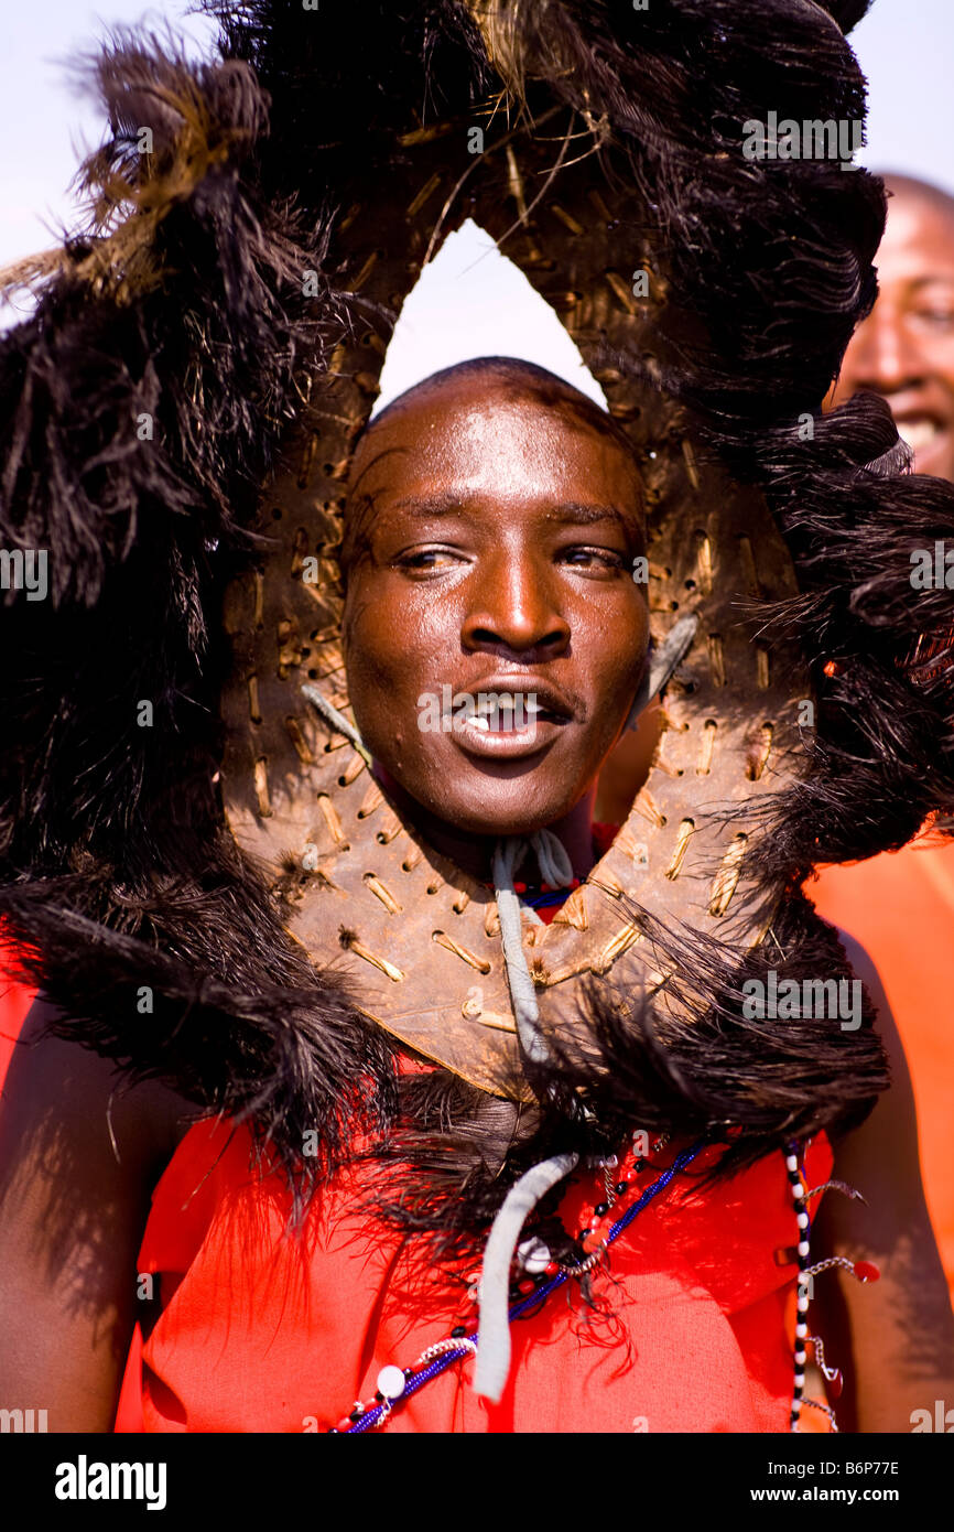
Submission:
<svg viewBox="0 0 954 1532">
<path fill-rule="evenodd" d="M 348 0 L 340 0 L 348 3 Z M 103 138 L 101 119 L 87 100 L 78 98 L 66 60 L 95 46 L 115 23 L 147 20 L 156 28 L 170 25 L 202 51 L 214 37 L 205 17 L 188 15 L 182 0 L 144 8 L 139 0 L 26 0 L 5 18 L 0 51 L 0 133 L 5 144 L 0 172 L 0 267 L 47 248 L 57 230 L 70 218 L 67 184 L 81 153 Z M 767 40 L 769 41 L 769 40 Z M 954 193 L 954 153 L 949 144 L 949 97 L 954 75 L 954 0 L 874 0 L 871 14 L 854 29 L 853 46 L 870 83 L 868 147 L 859 155 L 864 164 L 899 170 L 936 181 Z M 404 378 L 421 368 L 435 371 L 466 355 L 485 355 L 505 349 L 508 355 L 531 355 L 544 366 L 564 372 L 585 386 L 574 372 L 576 362 L 564 346 L 564 334 L 551 317 L 547 328 L 556 336 L 556 349 L 541 332 L 530 296 L 515 296 L 496 276 L 502 260 L 485 257 L 479 236 L 467 247 L 446 253 L 444 280 L 433 282 L 432 296 L 418 294 L 406 314 L 404 331 L 413 332 L 403 346 L 427 348 L 417 362 L 400 358 L 397 346 L 392 368 Z M 475 265 L 476 260 L 476 265 Z M 456 271 L 452 268 L 456 265 Z M 467 280 L 467 302 L 456 297 L 455 283 Z M 439 270 L 433 273 L 441 277 Z M 524 279 L 521 277 L 519 282 Z M 478 302 L 478 282 L 481 299 Z M 519 283 L 518 283 L 519 288 Z M 528 286 L 522 290 L 530 293 Z M 507 294 L 510 294 L 507 297 Z M 492 328 L 507 297 L 505 329 Z M 539 300 L 537 300 L 539 302 Z M 9 314 L 9 311 L 8 311 Z M 464 323 L 469 316 L 469 332 Z M 9 323 L 0 316 L 0 325 Z M 450 328 L 452 326 L 452 328 Z M 430 365 L 433 363 L 433 365 Z M 386 378 L 394 391 L 397 385 Z M 591 385 L 596 389 L 596 385 Z"/>
</svg>

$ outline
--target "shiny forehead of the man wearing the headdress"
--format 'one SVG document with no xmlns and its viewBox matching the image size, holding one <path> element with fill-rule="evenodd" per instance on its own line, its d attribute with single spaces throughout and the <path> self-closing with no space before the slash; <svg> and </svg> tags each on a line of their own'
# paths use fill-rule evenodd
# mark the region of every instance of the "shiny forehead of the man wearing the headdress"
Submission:
<svg viewBox="0 0 954 1532">
<path fill-rule="evenodd" d="M 495 375 L 421 388 L 372 421 L 355 450 L 351 487 L 387 492 L 409 478 L 488 483 L 597 475 L 639 493 L 626 441 L 590 400 L 554 380 Z"/>
</svg>

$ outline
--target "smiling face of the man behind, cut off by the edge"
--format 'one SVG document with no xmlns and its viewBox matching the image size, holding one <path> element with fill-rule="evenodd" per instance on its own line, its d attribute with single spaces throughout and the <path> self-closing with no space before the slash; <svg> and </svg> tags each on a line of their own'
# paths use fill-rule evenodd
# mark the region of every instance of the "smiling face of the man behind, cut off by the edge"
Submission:
<svg viewBox="0 0 954 1532">
<path fill-rule="evenodd" d="M 831 403 L 880 394 L 916 472 L 954 480 L 954 207 L 897 190 L 877 277 L 880 296 L 851 337 Z"/>
</svg>

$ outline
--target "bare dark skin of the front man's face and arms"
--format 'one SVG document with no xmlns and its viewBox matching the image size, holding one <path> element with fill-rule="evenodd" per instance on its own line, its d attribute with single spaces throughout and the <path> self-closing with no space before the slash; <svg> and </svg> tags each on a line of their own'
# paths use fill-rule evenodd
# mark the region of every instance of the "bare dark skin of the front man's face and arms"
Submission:
<svg viewBox="0 0 954 1532">
<path fill-rule="evenodd" d="M 522 426 L 513 411 L 490 411 L 485 392 L 458 391 L 446 404 L 432 397 L 413 415 L 395 412 L 368 435 L 355 484 L 377 484 L 392 501 L 409 487 L 417 496 L 466 489 L 469 499 L 466 515 L 436 525 L 392 507 L 369 552 L 357 539 L 349 680 L 366 741 L 400 791 L 413 794 L 441 849 L 481 872 L 496 835 L 550 824 L 585 872 L 600 749 L 619 735 L 645 654 L 643 597 L 629 574 L 640 552 L 639 483 L 619 444 L 596 424 L 579 429 L 585 415 L 576 406 L 550 420 L 531 398 L 525 409 Z M 487 463 L 472 452 L 469 421 L 485 432 Z M 383 458 L 383 446 L 397 450 Z M 504 449 L 522 455 L 521 473 L 510 472 Z M 384 463 L 395 464 L 394 478 Z M 364 473 L 380 481 L 361 481 Z M 616 506 L 622 522 L 580 522 L 579 513 L 557 521 L 553 507 L 568 501 Z M 438 573 L 415 573 L 421 567 Z M 418 729 L 421 689 L 443 680 L 479 689 L 502 665 L 545 685 L 553 674 L 553 686 L 573 697 L 568 726 L 557 723 L 537 749 L 504 764 Z M 378 697 L 375 685 L 390 689 Z M 475 806 L 484 815 L 478 829 Z M 908 1431 L 913 1409 L 954 1399 L 954 1322 L 920 1187 L 903 1052 L 870 959 L 847 941 L 871 990 L 894 1085 L 836 1144 L 833 1174 L 862 1186 L 868 1206 L 825 1198 L 813 1253 L 865 1256 L 884 1275 L 865 1288 L 821 1276 L 810 1314 L 850 1380 L 842 1428 Z M 150 1318 L 135 1296 L 150 1193 L 191 1109 L 156 1085 L 118 1095 L 110 1063 L 43 1037 L 49 1014 L 38 999 L 0 1109 L 0 1406 L 46 1408 L 51 1431 L 107 1432 L 133 1324 Z"/>
</svg>

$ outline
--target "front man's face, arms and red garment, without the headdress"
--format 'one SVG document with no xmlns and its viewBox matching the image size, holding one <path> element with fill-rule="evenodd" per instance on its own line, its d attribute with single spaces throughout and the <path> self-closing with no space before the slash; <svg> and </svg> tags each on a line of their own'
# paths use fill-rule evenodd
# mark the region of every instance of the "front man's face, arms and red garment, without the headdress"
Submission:
<svg viewBox="0 0 954 1532">
<path fill-rule="evenodd" d="M 395 797 L 429 840 L 476 876 L 490 872 L 496 836 L 541 827 L 556 833 L 577 876 L 597 856 L 591 840 L 596 774 L 625 723 L 645 665 L 646 602 L 631 578 L 642 536 L 639 472 L 619 434 L 576 391 L 525 365 L 464 365 L 426 380 L 395 401 L 358 447 L 343 555 L 355 719 L 378 777 L 389 791 L 397 787 Z M 420 697 L 439 692 L 444 682 L 455 692 L 533 691 L 542 703 L 536 737 L 524 738 L 499 720 L 488 729 L 420 729 Z M 862 953 L 853 950 L 851 958 L 873 987 L 882 1037 L 894 1056 L 876 976 Z M 28 1042 L 37 1042 L 43 1011 L 40 1005 L 28 1022 Z M 273 1316 L 260 1298 L 243 1308 L 259 1291 L 265 1256 L 256 1250 L 237 1259 L 230 1241 L 242 1238 L 240 1219 L 233 1226 L 221 1209 L 213 1216 L 208 1196 L 187 1198 L 184 1210 L 182 1178 L 199 1174 L 194 1155 L 208 1124 L 181 1143 L 185 1105 L 155 1088 L 135 1088 L 116 1121 L 116 1161 L 106 1114 L 112 1088 L 112 1066 L 67 1042 L 25 1048 L 14 1065 L 0 1149 L 6 1166 L 0 1236 L 12 1299 L 5 1305 L 11 1321 L 0 1347 L 6 1359 L 2 1386 L 11 1397 L 34 1397 L 41 1382 L 54 1429 L 109 1429 L 135 1307 L 127 1272 L 135 1268 L 155 1273 L 162 1293 L 170 1281 L 176 1290 L 176 1304 L 164 1304 L 147 1339 L 147 1429 L 181 1429 L 182 1423 L 185 1429 L 300 1429 L 289 1422 L 314 1411 L 331 1423 L 329 1408 L 345 1408 L 354 1397 L 349 1368 L 363 1337 L 374 1336 L 375 1347 L 409 1344 L 389 1331 L 392 1265 L 384 1262 L 381 1270 L 360 1258 L 364 1236 L 372 1233 L 375 1249 L 384 1252 L 392 1236 L 361 1226 L 343 1247 L 317 1249 L 309 1265 L 311 1305 L 328 1316 L 338 1295 L 348 1293 L 337 1328 L 323 1319 L 320 1330 L 308 1330 L 309 1321 L 277 1285 L 285 1363 L 276 1371 L 270 1348 L 279 1310 Z M 470 1124 L 475 1141 L 482 1131 L 481 1120 Z M 173 1154 L 170 1175 L 156 1186 L 162 1160 Z M 44 1164 L 69 1167 L 69 1229 L 60 1206 L 61 1177 L 43 1174 Z M 642 1413 L 652 1429 L 784 1429 L 790 1386 L 787 1376 L 779 1383 L 786 1374 L 778 1302 L 784 1273 L 773 1267 L 769 1246 L 781 1242 L 772 1236 L 776 1227 L 789 1238 L 793 1219 L 784 1172 L 781 1198 L 769 1192 L 764 1178 L 772 1167 L 782 1172 L 776 1155 L 732 1183 L 732 1239 L 720 1236 L 720 1192 L 712 1201 L 697 1198 L 694 1212 L 680 1209 L 668 1230 L 652 1232 L 652 1219 L 643 1219 L 635 1233 L 643 1242 L 616 1247 L 617 1288 L 639 1299 L 622 1310 L 634 1325 L 635 1371 L 617 1370 L 617 1376 L 605 1368 L 594 1388 L 588 1379 L 603 1360 L 602 1345 L 580 1353 L 568 1324 L 559 1328 L 557 1345 L 545 1313 L 545 1345 L 534 1345 L 533 1322 L 519 1327 L 516 1399 L 530 1400 L 530 1414 L 525 1403 L 504 1400 L 499 1416 L 484 1416 L 470 1394 L 444 1388 L 421 1394 L 415 1413 L 401 1417 L 406 1428 L 632 1429 L 626 1411 L 632 1413 L 628 1402 L 635 1397 L 645 1402 Z M 897 1060 L 894 1088 L 868 1121 L 836 1146 L 835 1175 L 862 1181 L 870 1206 L 827 1196 L 815 1258 L 874 1258 L 884 1262 L 884 1278 L 873 1288 L 854 1288 L 847 1314 L 833 1307 L 833 1285 L 825 1291 L 819 1281 L 822 1325 L 842 1365 L 851 1356 L 845 1368 L 853 1391 L 850 1425 L 903 1429 L 922 1396 L 934 1397 L 946 1386 L 952 1350 L 917 1186 L 903 1060 Z M 225 1203 L 233 1195 L 248 1198 L 240 1137 L 216 1177 L 213 1184 L 228 1183 Z M 334 1213 L 332 1226 L 338 1213 L 354 1216 L 354 1190 L 348 1193 L 348 1181 L 345 1187 L 343 1209 L 335 1210 L 340 1193 L 334 1187 L 323 1201 L 322 1216 Z M 259 1206 L 254 1193 L 253 1203 Z M 51 1235 L 43 1230 L 57 1230 L 57 1261 L 49 1259 Z M 692 1239 L 712 1253 L 709 1281 L 721 1291 L 718 1302 L 698 1282 L 681 1290 L 680 1261 Z M 760 1253 L 755 1267 L 747 1239 Z M 297 1259 L 294 1246 L 282 1252 L 285 1261 Z M 224 1272 L 231 1273 L 228 1281 Z M 669 1284 L 665 1301 L 663 1282 Z M 196 1365 L 190 1348 L 198 1331 L 178 1316 L 199 1311 L 207 1319 Z M 242 1313 L 250 1316 L 245 1328 Z M 421 1345 L 439 1339 L 436 1288 L 424 1293 L 413 1318 Z M 221 1328 L 221 1345 L 208 1325 Z M 911 1353 L 911 1328 L 933 1337 L 929 1362 Z M 34 1339 L 38 1333 L 57 1337 L 43 1354 Z M 666 1365 L 677 1334 L 686 1354 L 704 1357 L 712 1374 L 735 1377 L 726 1397 L 712 1396 L 711 1373 L 698 1363 Z M 375 1365 L 395 1360 L 387 1350 L 377 1357 Z M 322 1379 L 317 1396 L 315 1373 Z M 769 1399 L 769 1377 L 784 1390 L 781 1397 Z"/>
</svg>

